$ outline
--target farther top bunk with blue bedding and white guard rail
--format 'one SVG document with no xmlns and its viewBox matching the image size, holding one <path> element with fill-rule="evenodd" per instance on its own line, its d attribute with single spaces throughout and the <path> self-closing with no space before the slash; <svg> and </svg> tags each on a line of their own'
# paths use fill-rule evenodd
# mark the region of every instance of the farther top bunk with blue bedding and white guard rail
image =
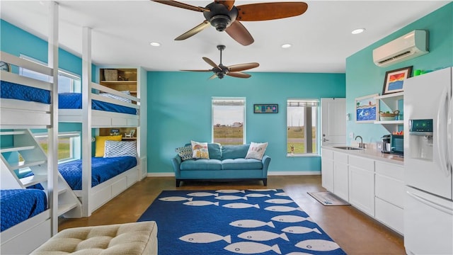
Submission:
<svg viewBox="0 0 453 255">
<path fill-rule="evenodd" d="M 84 114 L 83 110 L 83 100 L 88 98 L 92 128 L 139 126 L 139 98 L 132 96 L 130 91 L 118 91 L 95 82 L 88 84 L 89 95 L 59 94 L 59 122 L 82 123 L 84 118 L 89 118 L 88 111 Z"/>
</svg>

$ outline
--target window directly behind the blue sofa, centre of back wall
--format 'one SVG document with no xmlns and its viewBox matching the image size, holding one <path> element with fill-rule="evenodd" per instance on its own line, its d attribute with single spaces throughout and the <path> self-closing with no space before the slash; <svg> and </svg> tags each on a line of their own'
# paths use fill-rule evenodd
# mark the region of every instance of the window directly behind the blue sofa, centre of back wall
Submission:
<svg viewBox="0 0 453 255">
<path fill-rule="evenodd" d="M 243 145 L 246 98 L 212 98 L 212 142 Z"/>
</svg>

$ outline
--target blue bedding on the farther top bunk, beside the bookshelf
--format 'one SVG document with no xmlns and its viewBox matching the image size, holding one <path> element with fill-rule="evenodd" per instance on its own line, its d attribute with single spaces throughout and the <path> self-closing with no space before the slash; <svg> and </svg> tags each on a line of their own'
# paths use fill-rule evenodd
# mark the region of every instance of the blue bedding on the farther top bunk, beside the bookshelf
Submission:
<svg viewBox="0 0 453 255">
<path fill-rule="evenodd" d="M 58 108 L 60 109 L 81 109 L 82 108 L 82 94 L 80 93 L 61 93 L 58 94 Z M 118 106 L 114 103 L 107 103 L 103 101 L 91 101 L 91 108 L 93 110 L 110 111 L 114 113 L 127 113 L 137 114 L 137 109 Z"/>
</svg>

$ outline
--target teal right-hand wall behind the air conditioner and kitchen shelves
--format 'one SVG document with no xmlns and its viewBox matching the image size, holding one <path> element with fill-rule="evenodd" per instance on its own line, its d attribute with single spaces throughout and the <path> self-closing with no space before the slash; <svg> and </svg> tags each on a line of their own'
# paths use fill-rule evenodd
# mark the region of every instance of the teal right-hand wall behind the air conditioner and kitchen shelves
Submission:
<svg viewBox="0 0 453 255">
<path fill-rule="evenodd" d="M 430 52 L 428 54 L 389 67 L 377 67 L 373 63 L 372 50 L 412 30 L 429 31 Z M 346 111 L 352 117 L 347 122 L 348 134 L 353 132 L 354 135 L 361 135 L 363 142 L 367 143 L 378 142 L 382 135 L 389 134 L 389 131 L 382 125 L 355 123 L 355 98 L 370 94 L 382 94 L 385 73 L 389 70 L 408 66 L 413 66 L 413 70 L 435 70 L 453 66 L 453 3 L 449 3 L 395 33 L 374 42 L 346 59 Z M 402 111 L 401 102 L 399 102 L 398 107 Z M 401 126 L 399 130 L 401 130 Z M 349 144 L 350 142 L 351 140 L 348 140 Z"/>
</svg>

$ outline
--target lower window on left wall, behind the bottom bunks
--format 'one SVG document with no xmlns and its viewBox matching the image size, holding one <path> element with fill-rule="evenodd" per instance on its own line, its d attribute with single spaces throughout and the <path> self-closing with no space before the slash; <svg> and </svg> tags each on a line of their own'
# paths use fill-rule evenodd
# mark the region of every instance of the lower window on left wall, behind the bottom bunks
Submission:
<svg viewBox="0 0 453 255">
<path fill-rule="evenodd" d="M 35 138 L 47 154 L 47 133 L 35 133 Z M 80 159 L 80 132 L 60 132 L 58 134 L 58 162 Z"/>
</svg>

